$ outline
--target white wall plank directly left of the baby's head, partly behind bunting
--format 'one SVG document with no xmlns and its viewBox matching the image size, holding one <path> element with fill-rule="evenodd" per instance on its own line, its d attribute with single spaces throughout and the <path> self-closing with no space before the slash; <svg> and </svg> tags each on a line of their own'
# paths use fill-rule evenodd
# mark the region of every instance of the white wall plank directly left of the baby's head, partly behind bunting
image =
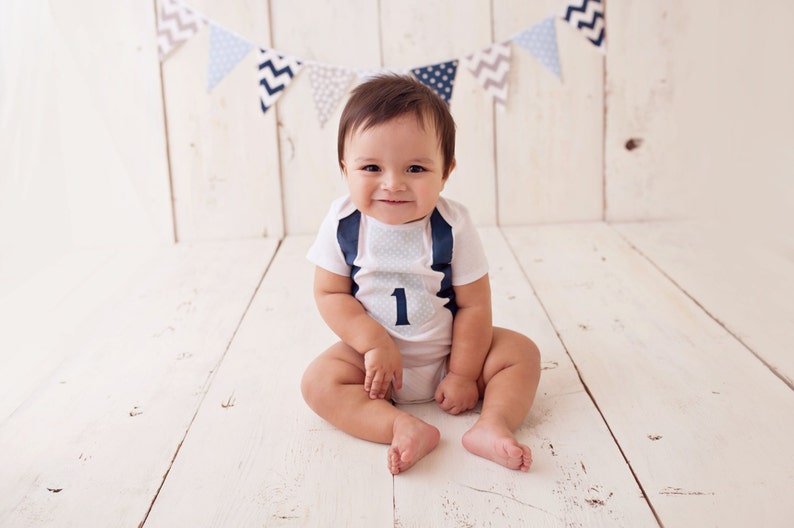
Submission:
<svg viewBox="0 0 794 528">
<path fill-rule="evenodd" d="M 308 5 L 296 9 L 292 0 L 271 0 L 276 49 L 304 61 L 340 67 L 380 66 L 377 2 L 314 1 Z M 308 68 L 298 74 L 275 108 L 289 234 L 316 232 L 328 204 L 347 192 L 336 151 L 339 116 L 347 98 L 321 127 Z"/>
</svg>

